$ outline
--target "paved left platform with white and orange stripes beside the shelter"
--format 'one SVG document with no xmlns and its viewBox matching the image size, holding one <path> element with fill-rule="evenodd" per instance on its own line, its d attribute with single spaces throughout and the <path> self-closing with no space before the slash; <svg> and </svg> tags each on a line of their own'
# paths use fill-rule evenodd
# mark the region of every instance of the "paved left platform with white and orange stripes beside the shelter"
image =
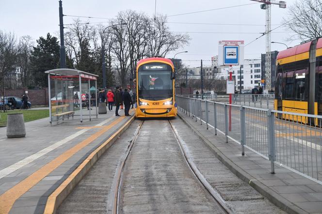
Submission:
<svg viewBox="0 0 322 214">
<path fill-rule="evenodd" d="M 114 117 L 108 111 L 83 124 L 50 125 L 48 118 L 26 122 L 26 138 L 8 139 L 0 128 L 0 214 L 43 213 L 48 196 L 93 151 L 129 125 L 131 113 Z"/>
</svg>

